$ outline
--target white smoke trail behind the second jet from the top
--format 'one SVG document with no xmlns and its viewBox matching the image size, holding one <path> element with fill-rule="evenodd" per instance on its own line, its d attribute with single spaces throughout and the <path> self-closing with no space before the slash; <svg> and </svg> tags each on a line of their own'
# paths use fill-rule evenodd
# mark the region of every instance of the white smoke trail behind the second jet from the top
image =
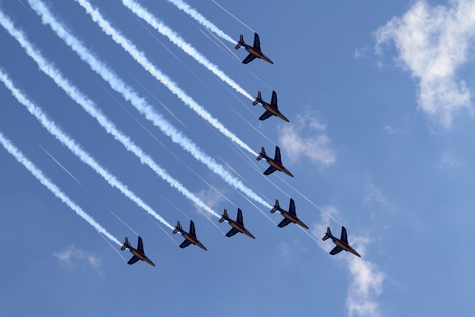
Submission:
<svg viewBox="0 0 475 317">
<path fill-rule="evenodd" d="M 229 78 L 218 66 L 212 64 L 207 58 L 205 58 L 201 53 L 199 53 L 190 43 L 185 42 L 175 31 L 170 29 L 168 26 L 163 24 L 162 21 L 157 19 L 150 13 L 147 9 L 143 8 L 139 3 L 134 0 L 122 0 L 124 6 L 132 10 L 140 18 L 147 21 L 152 27 L 157 29 L 161 34 L 168 37 L 174 44 L 184 50 L 188 55 L 196 59 L 200 64 L 204 65 L 210 71 L 212 71 L 216 76 L 221 78 L 222 81 L 226 82 L 229 86 L 237 90 L 237 92 L 243 94 L 247 98 L 254 101 L 254 98 L 249 95 L 243 88 L 241 88 L 234 80 Z"/>
</svg>

